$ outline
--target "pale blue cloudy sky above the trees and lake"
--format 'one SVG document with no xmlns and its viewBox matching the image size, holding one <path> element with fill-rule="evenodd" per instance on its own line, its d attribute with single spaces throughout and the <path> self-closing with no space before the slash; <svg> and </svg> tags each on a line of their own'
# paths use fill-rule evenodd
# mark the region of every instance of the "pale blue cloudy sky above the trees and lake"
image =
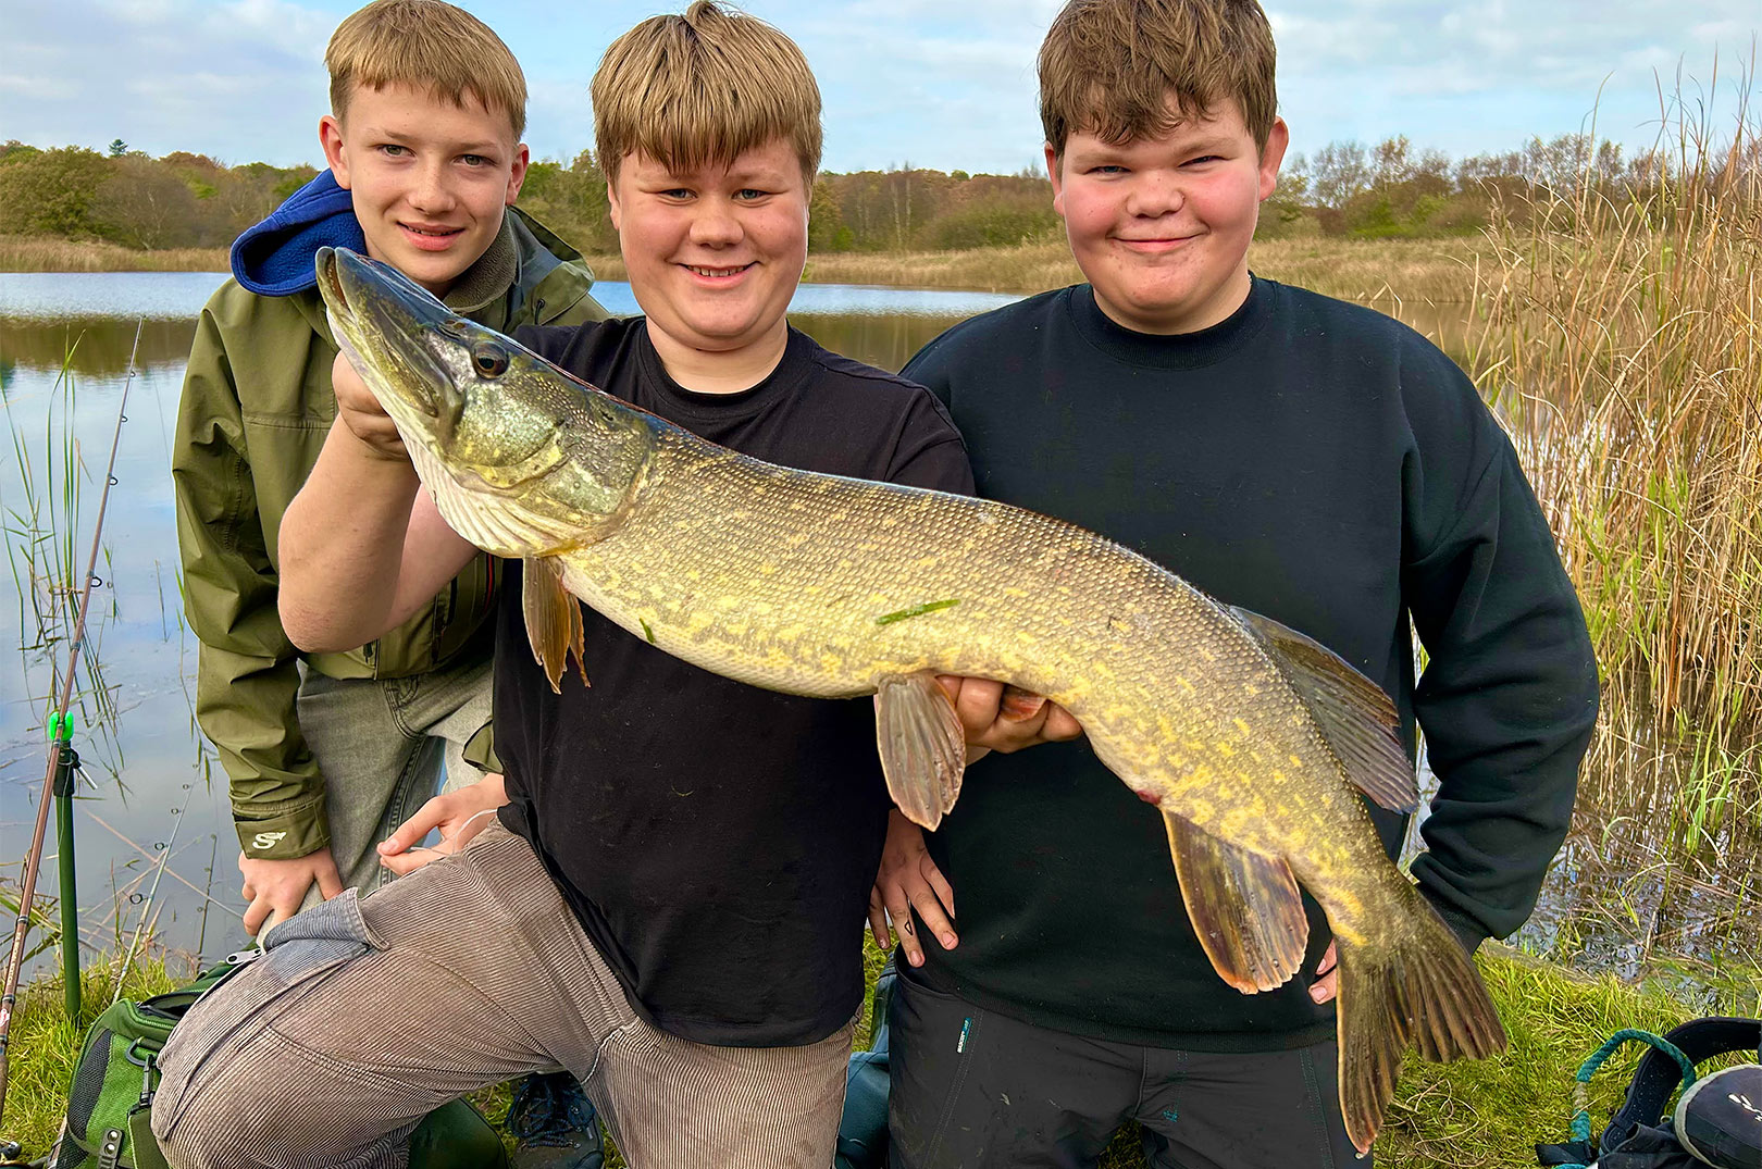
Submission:
<svg viewBox="0 0 1762 1169">
<path fill-rule="evenodd" d="M 1040 165 L 1034 53 L 1062 0 L 744 0 L 807 53 L 828 171 Z M 1758 0 L 1263 0 L 1292 151 L 1404 134 L 1452 158 L 1589 129 L 1655 141 L 1660 85 L 1736 118 Z M 0 0 L 0 141 L 123 139 L 224 164 L 321 164 L 324 44 L 358 0 Z M 684 0 L 462 5 L 530 88 L 534 158 L 592 144 L 606 44 Z"/>
</svg>

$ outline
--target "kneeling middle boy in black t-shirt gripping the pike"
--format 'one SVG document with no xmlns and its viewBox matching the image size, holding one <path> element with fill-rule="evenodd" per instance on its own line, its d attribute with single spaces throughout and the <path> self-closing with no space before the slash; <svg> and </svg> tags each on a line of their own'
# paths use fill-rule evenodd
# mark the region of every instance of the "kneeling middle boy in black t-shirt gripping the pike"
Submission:
<svg viewBox="0 0 1762 1169">
<path fill-rule="evenodd" d="M 784 317 L 819 162 L 795 44 L 692 4 L 620 37 L 592 97 L 645 315 L 518 340 L 747 454 L 971 491 L 930 394 Z M 282 616 L 308 646 L 372 637 L 472 555 L 345 363 L 335 382 L 338 423 L 282 528 Z M 153 1111 L 173 1164 L 395 1164 L 435 1104 L 546 1067 L 581 1079 L 643 1169 L 832 1162 L 853 926 L 886 833 L 870 706 L 708 674 L 596 613 L 592 687 L 555 694 L 520 593 L 504 583 L 497 614 L 506 787 L 432 801 L 382 845 L 407 879 L 271 931 L 190 1012 Z M 442 852 L 476 838 L 419 864 L 428 827 Z"/>
</svg>

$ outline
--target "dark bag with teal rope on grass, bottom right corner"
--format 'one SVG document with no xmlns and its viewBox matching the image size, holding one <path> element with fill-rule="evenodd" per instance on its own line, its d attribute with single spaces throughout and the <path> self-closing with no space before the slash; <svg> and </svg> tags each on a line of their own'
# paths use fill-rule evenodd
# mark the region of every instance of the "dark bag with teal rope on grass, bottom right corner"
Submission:
<svg viewBox="0 0 1762 1169">
<path fill-rule="evenodd" d="M 1640 1056 L 1626 1099 L 1593 1143 L 1586 1086 L 1630 1040 L 1651 1051 Z M 1697 1072 L 1700 1062 L 1732 1051 L 1755 1051 L 1762 1060 L 1762 1019 L 1693 1019 L 1663 1035 L 1616 1032 L 1579 1067 L 1572 1137 L 1536 1144 L 1536 1162 L 1554 1169 L 1762 1169 L 1762 1063 Z M 1669 1109 L 1677 1088 L 1676 1109 Z"/>
</svg>

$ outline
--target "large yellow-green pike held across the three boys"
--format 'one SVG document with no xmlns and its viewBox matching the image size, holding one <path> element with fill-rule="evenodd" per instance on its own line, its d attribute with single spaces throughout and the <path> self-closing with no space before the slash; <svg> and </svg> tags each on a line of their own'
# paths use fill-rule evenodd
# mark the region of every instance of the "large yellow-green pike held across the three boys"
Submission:
<svg viewBox="0 0 1762 1169">
<path fill-rule="evenodd" d="M 440 514 L 525 562 L 559 685 L 574 599 L 705 669 L 876 695 L 888 790 L 934 827 L 964 741 L 937 673 L 1047 695 L 1156 805 L 1200 944 L 1237 989 L 1297 974 L 1299 886 L 1339 942 L 1341 1104 L 1367 1150 L 1410 1042 L 1505 1033 L 1473 965 L 1385 856 L 1359 792 L 1413 810 L 1388 697 L 1309 637 L 1119 544 L 1004 504 L 774 467 L 578 382 L 389 268 L 319 252 L 344 352 Z"/>
</svg>

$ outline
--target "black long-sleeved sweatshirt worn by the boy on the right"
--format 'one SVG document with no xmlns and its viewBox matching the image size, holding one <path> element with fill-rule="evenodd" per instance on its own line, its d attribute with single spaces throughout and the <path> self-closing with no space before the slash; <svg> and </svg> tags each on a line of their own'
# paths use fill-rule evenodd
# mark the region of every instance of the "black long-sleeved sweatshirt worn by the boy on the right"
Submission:
<svg viewBox="0 0 1762 1169">
<path fill-rule="evenodd" d="M 1529 914 L 1572 812 L 1596 667 L 1505 435 L 1425 338 L 1255 280 L 1228 320 L 1128 331 L 1089 285 L 955 326 L 906 375 L 943 398 L 980 495 L 1101 532 L 1330 646 L 1427 736 L 1413 863 L 1468 942 Z M 1413 629 L 1429 650 L 1415 687 Z M 1170 701 L 1179 701 L 1172 695 Z M 1394 847 L 1399 820 L 1373 810 Z M 922 977 L 1059 1030 L 1189 1049 L 1332 1033 L 1306 972 L 1239 995 L 1188 924 L 1163 820 L 1087 743 L 992 755 L 930 836 L 960 945 Z"/>
</svg>

